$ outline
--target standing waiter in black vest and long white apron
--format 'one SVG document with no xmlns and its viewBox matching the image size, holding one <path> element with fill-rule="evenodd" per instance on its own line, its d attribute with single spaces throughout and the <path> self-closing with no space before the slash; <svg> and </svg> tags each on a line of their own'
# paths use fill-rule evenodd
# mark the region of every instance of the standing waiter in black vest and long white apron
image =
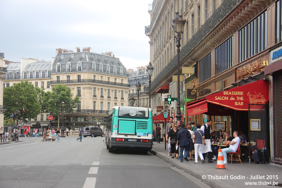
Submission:
<svg viewBox="0 0 282 188">
<path fill-rule="evenodd" d="M 212 120 L 208 119 L 207 123 L 204 124 L 203 126 L 201 126 L 201 130 L 204 132 L 204 135 L 205 135 L 205 140 L 203 142 L 204 145 L 202 147 L 202 154 L 203 154 L 203 158 L 205 160 L 206 153 L 208 153 L 208 158 L 209 158 L 208 163 L 213 162 L 213 160 L 212 160 L 212 150 L 211 150 L 211 135 L 210 135 L 211 123 L 212 123 Z"/>
</svg>

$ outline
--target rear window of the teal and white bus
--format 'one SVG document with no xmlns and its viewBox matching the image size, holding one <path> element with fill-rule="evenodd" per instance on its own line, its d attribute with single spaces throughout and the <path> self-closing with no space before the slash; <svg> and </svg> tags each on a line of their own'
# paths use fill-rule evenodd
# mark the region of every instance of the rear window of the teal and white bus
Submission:
<svg viewBox="0 0 282 188">
<path fill-rule="evenodd" d="M 125 117 L 149 117 L 147 108 L 121 108 L 119 109 L 118 116 Z"/>
</svg>

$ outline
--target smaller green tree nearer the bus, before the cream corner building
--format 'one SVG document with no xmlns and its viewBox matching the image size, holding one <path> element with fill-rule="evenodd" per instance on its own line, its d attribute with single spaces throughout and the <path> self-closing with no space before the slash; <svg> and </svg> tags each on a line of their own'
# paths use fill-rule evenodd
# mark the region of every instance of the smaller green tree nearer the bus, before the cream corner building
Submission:
<svg viewBox="0 0 282 188">
<path fill-rule="evenodd" d="M 65 103 L 64 111 L 71 111 L 77 106 L 79 97 L 75 96 L 73 99 L 71 89 L 66 85 L 58 84 L 52 87 L 52 92 L 47 91 L 45 93 L 43 101 L 43 103 L 47 104 L 46 112 L 58 115 L 62 111 L 62 102 Z"/>
</svg>

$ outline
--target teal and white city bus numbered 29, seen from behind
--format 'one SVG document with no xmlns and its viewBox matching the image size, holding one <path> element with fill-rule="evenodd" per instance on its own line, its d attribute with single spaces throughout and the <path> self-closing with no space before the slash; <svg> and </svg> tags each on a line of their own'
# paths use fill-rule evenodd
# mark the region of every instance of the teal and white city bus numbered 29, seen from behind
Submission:
<svg viewBox="0 0 282 188">
<path fill-rule="evenodd" d="M 147 154 L 153 145 L 152 109 L 113 107 L 107 116 L 106 145 L 114 149 L 139 149 Z"/>
</svg>

